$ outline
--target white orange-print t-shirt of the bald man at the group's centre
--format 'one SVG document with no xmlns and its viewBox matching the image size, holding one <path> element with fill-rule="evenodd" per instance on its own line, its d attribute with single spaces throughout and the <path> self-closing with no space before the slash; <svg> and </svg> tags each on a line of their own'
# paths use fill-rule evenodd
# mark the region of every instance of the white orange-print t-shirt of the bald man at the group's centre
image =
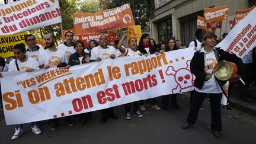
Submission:
<svg viewBox="0 0 256 144">
<path fill-rule="evenodd" d="M 106 49 L 97 46 L 91 50 L 91 59 L 96 60 L 97 57 L 101 57 L 101 59 L 109 59 L 112 54 L 116 55 L 116 57 L 121 55 L 121 53 L 116 52 L 116 49 L 113 46 L 108 46 Z"/>
</svg>

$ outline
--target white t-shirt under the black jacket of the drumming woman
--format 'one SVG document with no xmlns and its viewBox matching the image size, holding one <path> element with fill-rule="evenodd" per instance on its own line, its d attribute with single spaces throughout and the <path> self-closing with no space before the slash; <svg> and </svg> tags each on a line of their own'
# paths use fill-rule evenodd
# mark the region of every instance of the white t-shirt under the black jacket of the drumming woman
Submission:
<svg viewBox="0 0 256 144">
<path fill-rule="evenodd" d="M 206 52 L 204 50 L 204 47 L 201 49 L 201 52 L 204 54 L 204 72 L 207 73 L 207 75 L 212 74 L 213 68 L 217 65 L 217 60 L 215 56 L 215 52 L 212 49 L 210 52 Z M 215 78 L 215 75 L 212 75 L 212 78 L 210 78 L 208 81 L 204 81 L 204 85 L 201 89 L 196 88 L 195 90 L 198 92 L 204 92 L 204 93 L 222 93 L 222 90 L 219 87 L 219 84 L 217 84 L 217 80 Z"/>
</svg>

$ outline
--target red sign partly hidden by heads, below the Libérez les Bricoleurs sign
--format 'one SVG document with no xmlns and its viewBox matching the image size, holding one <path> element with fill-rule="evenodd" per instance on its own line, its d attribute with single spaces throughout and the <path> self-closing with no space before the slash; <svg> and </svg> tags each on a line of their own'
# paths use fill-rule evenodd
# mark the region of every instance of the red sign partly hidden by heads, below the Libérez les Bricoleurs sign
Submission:
<svg viewBox="0 0 256 144">
<path fill-rule="evenodd" d="M 111 41 L 115 41 L 117 39 L 117 33 L 97 33 L 97 34 L 81 34 L 79 35 L 79 40 L 84 42 L 85 47 L 89 47 L 90 40 L 96 40 L 97 42 L 99 42 L 100 36 L 103 34 L 107 36 L 108 43 L 110 43 Z"/>
</svg>

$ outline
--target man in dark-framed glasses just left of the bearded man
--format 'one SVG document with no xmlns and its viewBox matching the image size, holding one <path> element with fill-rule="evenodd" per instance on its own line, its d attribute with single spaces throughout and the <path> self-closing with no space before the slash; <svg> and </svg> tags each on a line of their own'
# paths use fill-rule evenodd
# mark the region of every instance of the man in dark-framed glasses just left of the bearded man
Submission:
<svg viewBox="0 0 256 144">
<path fill-rule="evenodd" d="M 36 37 L 34 37 L 33 34 L 25 36 L 25 42 L 27 43 L 25 47 L 27 50 L 26 55 L 38 61 L 39 53 L 44 51 L 43 46 L 36 44 Z"/>
</svg>

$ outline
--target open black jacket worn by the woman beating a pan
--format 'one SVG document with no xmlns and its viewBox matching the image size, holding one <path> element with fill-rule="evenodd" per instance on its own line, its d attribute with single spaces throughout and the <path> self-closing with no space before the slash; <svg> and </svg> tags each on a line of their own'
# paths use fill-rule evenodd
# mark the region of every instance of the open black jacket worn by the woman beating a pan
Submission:
<svg viewBox="0 0 256 144">
<path fill-rule="evenodd" d="M 215 56 L 217 59 L 217 62 L 221 62 L 223 60 L 233 62 L 238 66 L 238 74 L 241 76 L 245 76 L 245 67 L 244 63 L 242 60 L 237 57 L 234 54 L 230 54 L 228 52 L 225 52 L 222 49 L 216 50 L 215 51 Z M 201 89 L 203 87 L 205 78 L 206 78 L 206 73 L 204 72 L 204 54 L 202 52 L 195 52 L 194 56 L 191 60 L 190 63 L 190 70 L 191 72 L 196 76 L 196 79 L 194 81 L 194 87 Z M 217 79 L 218 81 L 218 79 Z M 225 84 L 226 82 L 221 82 L 222 84 Z"/>
</svg>

